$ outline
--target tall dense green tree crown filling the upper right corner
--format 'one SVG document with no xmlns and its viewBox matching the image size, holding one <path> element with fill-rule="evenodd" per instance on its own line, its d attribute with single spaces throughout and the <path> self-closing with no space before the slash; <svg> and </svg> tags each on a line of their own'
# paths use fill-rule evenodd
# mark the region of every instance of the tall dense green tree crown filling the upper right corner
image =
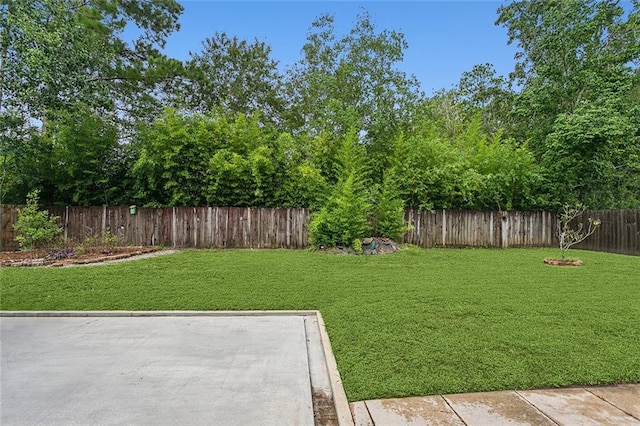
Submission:
<svg viewBox="0 0 640 426">
<path fill-rule="evenodd" d="M 633 0 L 625 12 L 617 0 L 517 0 L 498 9 L 496 24 L 520 48 L 515 113 L 538 153 L 558 114 L 626 96 L 640 60 L 639 5 Z"/>
</svg>

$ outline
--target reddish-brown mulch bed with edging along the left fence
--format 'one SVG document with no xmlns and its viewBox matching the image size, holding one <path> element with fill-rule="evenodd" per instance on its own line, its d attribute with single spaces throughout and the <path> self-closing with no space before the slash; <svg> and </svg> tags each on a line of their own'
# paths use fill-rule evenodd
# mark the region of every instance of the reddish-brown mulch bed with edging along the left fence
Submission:
<svg viewBox="0 0 640 426">
<path fill-rule="evenodd" d="M 0 267 L 87 265 L 153 253 L 161 247 L 110 247 L 78 251 L 75 248 L 0 252 Z"/>
</svg>

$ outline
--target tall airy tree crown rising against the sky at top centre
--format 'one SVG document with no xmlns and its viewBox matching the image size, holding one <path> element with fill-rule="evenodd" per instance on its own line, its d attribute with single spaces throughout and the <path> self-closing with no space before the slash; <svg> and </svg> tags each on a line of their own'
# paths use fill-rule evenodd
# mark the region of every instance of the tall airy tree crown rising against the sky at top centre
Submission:
<svg viewBox="0 0 640 426">
<path fill-rule="evenodd" d="M 303 58 L 289 70 L 292 127 L 336 135 L 336 145 L 355 127 L 381 180 L 388 141 L 409 122 L 422 96 L 415 77 L 397 68 L 408 45 L 402 33 L 378 31 L 366 13 L 341 37 L 333 23 L 330 15 L 313 22 Z"/>
</svg>

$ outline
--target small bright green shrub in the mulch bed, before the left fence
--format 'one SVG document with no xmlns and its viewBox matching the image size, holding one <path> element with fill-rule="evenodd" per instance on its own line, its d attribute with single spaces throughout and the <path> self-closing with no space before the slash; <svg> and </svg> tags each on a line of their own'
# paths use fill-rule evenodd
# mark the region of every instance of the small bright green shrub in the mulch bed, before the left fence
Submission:
<svg viewBox="0 0 640 426">
<path fill-rule="evenodd" d="M 62 232 L 59 217 L 49 217 L 46 210 L 38 210 L 38 198 L 38 191 L 27 195 L 27 204 L 18 210 L 18 219 L 13 225 L 16 241 L 25 251 L 50 245 Z"/>
</svg>

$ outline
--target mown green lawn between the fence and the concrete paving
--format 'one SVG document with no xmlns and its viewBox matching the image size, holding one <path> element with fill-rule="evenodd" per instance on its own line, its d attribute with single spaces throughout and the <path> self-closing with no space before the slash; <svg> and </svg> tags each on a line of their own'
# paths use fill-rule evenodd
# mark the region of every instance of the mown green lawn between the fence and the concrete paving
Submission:
<svg viewBox="0 0 640 426">
<path fill-rule="evenodd" d="M 318 309 L 350 400 L 640 381 L 640 258 L 186 251 L 0 269 L 3 310 Z"/>
</svg>

